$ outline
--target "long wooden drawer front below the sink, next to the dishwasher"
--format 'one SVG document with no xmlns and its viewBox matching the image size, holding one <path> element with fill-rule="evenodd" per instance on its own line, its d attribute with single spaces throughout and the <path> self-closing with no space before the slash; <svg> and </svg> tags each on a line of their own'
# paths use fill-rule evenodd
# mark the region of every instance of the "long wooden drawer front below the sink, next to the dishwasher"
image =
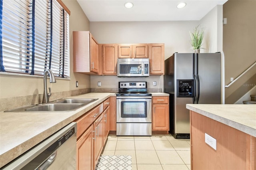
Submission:
<svg viewBox="0 0 256 170">
<path fill-rule="evenodd" d="M 103 112 L 103 103 L 94 107 L 92 110 L 85 113 L 82 117 L 76 120 L 77 132 L 76 137 L 79 136 L 100 116 Z"/>
</svg>

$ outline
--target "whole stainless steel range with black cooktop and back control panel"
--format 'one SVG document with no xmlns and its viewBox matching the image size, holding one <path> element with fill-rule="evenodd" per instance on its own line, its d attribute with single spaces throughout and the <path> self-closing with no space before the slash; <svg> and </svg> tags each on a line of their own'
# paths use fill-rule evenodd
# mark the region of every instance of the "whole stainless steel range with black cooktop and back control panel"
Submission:
<svg viewBox="0 0 256 170">
<path fill-rule="evenodd" d="M 147 82 L 119 82 L 116 93 L 116 135 L 152 135 L 152 96 Z"/>
</svg>

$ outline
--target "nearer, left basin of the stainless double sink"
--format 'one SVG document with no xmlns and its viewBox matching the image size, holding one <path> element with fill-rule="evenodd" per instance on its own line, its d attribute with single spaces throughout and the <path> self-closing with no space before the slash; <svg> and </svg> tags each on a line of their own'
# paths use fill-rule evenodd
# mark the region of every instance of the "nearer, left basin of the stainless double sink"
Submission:
<svg viewBox="0 0 256 170">
<path fill-rule="evenodd" d="M 58 112 L 58 111 L 72 111 L 78 107 L 82 107 L 84 104 L 60 104 L 60 103 L 51 103 L 42 106 L 32 107 L 30 109 L 25 109 L 25 111 L 32 112 Z"/>
</svg>

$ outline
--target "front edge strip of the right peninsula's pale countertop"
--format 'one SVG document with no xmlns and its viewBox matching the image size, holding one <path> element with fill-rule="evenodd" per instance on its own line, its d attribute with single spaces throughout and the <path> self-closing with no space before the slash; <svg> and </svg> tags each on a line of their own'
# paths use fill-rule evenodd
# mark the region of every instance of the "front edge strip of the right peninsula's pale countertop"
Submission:
<svg viewBox="0 0 256 170">
<path fill-rule="evenodd" d="M 210 119 L 213 119 L 215 121 L 218 121 L 220 123 L 223 123 L 224 125 L 228 125 L 232 128 L 235 128 L 237 130 L 240 130 L 244 133 L 247 133 L 247 134 L 250 134 L 251 136 L 254 136 L 256 137 L 256 129 L 254 128 L 251 128 L 251 127 L 248 127 L 246 125 L 243 125 L 243 124 L 240 124 L 240 123 L 237 123 L 235 121 L 232 121 L 230 119 L 226 119 L 224 117 L 221 117 L 221 116 L 218 116 L 218 115 L 215 115 L 213 113 L 210 113 L 210 112 L 207 112 L 207 111 L 204 111 L 202 109 L 198 109 L 198 108 L 195 108 L 191 105 L 186 105 L 186 108 L 191 110 L 191 111 L 194 111 L 196 113 L 199 113 L 200 115 L 204 115 Z"/>
</svg>

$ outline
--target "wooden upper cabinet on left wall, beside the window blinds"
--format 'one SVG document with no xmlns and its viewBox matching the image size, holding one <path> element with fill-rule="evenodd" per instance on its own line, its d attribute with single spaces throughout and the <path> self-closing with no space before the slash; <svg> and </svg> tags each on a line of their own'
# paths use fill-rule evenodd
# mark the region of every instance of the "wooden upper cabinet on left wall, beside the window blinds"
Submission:
<svg viewBox="0 0 256 170">
<path fill-rule="evenodd" d="M 99 73 L 99 44 L 88 31 L 73 32 L 74 72 Z"/>
</svg>

